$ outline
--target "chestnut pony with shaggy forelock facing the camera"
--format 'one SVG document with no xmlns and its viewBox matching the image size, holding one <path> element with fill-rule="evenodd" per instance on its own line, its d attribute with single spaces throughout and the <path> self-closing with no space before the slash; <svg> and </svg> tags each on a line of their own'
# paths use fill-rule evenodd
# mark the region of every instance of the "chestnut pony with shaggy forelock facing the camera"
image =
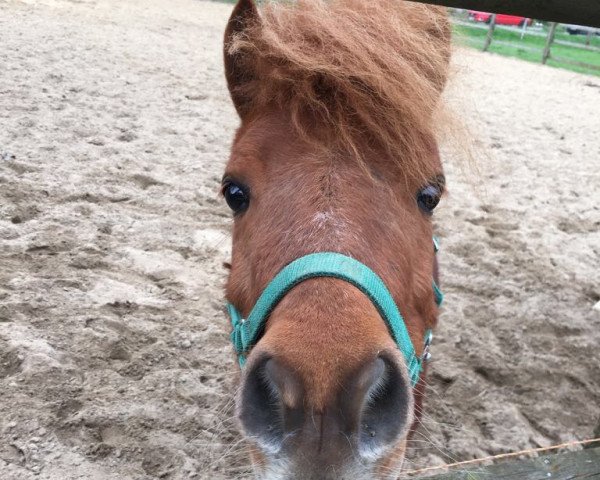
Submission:
<svg viewBox="0 0 600 480">
<path fill-rule="evenodd" d="M 243 365 L 237 415 L 256 474 L 395 478 L 438 314 L 431 215 L 444 190 L 434 119 L 446 15 L 401 0 L 260 11 L 239 0 L 224 53 L 241 118 L 222 185 L 234 212 L 226 296 Z M 354 262 L 384 286 L 369 291 L 337 271 L 295 277 L 242 338 L 265 289 L 314 253 L 333 270 Z M 401 312 L 405 340 L 377 300 Z"/>
</svg>

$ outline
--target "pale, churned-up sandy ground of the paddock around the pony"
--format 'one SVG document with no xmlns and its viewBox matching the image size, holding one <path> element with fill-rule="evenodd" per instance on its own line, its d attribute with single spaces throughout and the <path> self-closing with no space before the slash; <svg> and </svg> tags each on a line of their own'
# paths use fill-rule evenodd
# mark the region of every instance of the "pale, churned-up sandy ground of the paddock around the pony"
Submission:
<svg viewBox="0 0 600 480">
<path fill-rule="evenodd" d="M 0 0 L 0 478 L 247 478 L 222 308 L 231 6 Z M 590 437 L 600 80 L 462 52 L 408 467 Z M 594 309 L 594 305 L 596 308 Z"/>
</svg>

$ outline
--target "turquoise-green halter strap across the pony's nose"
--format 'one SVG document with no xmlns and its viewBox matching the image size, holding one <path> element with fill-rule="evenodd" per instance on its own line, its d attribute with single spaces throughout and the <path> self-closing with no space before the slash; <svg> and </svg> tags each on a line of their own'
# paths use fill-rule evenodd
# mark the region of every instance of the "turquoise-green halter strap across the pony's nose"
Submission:
<svg viewBox="0 0 600 480">
<path fill-rule="evenodd" d="M 437 252 L 439 247 L 435 237 L 433 246 L 435 252 Z M 429 358 L 429 345 L 432 339 L 431 330 L 428 329 L 425 332 L 423 355 L 417 357 L 404 318 L 383 280 L 364 263 L 334 252 L 311 253 L 297 258 L 283 267 L 258 297 L 248 318 L 243 318 L 231 303 L 227 304 L 227 310 L 233 324 L 231 341 L 238 354 L 240 366 L 244 366 L 246 355 L 260 339 L 267 319 L 277 304 L 293 287 L 315 277 L 332 277 L 344 280 L 354 285 L 371 300 L 385 320 L 392 338 L 404 355 L 408 374 L 414 387 L 419 381 L 423 361 Z M 444 296 L 435 281 L 432 282 L 432 287 L 436 304 L 440 306 Z"/>
</svg>

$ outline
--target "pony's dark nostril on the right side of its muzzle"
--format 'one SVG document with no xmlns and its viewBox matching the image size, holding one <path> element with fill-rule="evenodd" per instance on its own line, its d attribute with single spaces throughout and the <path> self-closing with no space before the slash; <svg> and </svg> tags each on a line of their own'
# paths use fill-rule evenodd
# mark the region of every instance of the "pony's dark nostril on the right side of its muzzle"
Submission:
<svg viewBox="0 0 600 480">
<path fill-rule="evenodd" d="M 363 366 L 353 379 L 347 418 L 353 418 L 359 452 L 379 455 L 407 432 L 412 397 L 399 365 L 379 356 Z"/>
</svg>

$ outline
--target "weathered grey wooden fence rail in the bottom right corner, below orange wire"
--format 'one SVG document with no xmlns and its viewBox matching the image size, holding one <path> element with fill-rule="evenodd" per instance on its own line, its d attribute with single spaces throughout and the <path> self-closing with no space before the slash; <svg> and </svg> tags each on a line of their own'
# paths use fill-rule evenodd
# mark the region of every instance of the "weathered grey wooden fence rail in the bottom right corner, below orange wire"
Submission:
<svg viewBox="0 0 600 480">
<path fill-rule="evenodd" d="M 419 477 L 420 478 L 420 477 Z M 600 448 L 506 462 L 486 467 L 465 466 L 428 480 L 600 480 Z"/>
</svg>

